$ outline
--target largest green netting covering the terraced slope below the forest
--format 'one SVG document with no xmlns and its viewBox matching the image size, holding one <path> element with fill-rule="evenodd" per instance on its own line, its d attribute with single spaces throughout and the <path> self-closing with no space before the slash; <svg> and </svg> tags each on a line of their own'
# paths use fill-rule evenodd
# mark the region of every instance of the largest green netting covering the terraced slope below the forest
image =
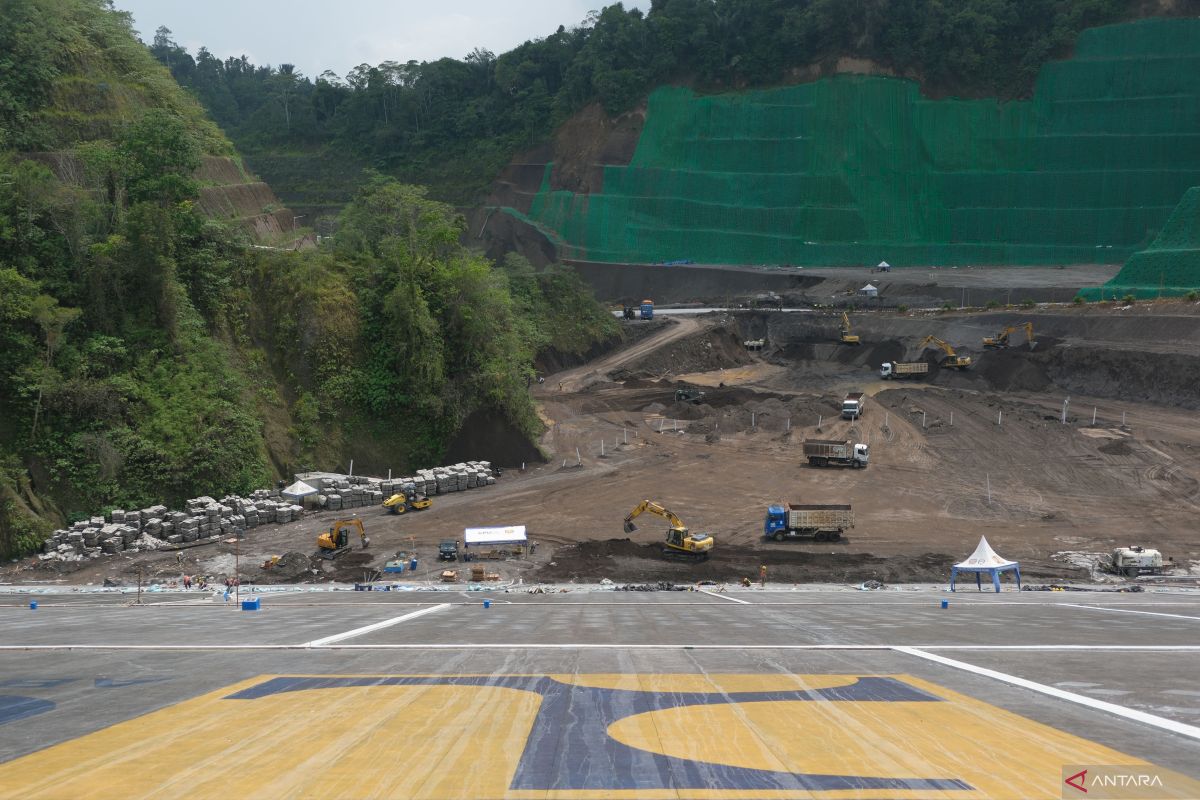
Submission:
<svg viewBox="0 0 1200 800">
<path fill-rule="evenodd" d="M 595 260 L 1116 263 L 1200 184 L 1200 20 L 1085 31 L 1027 102 L 931 101 L 838 77 L 665 88 L 628 167 L 530 217 Z"/>
</svg>

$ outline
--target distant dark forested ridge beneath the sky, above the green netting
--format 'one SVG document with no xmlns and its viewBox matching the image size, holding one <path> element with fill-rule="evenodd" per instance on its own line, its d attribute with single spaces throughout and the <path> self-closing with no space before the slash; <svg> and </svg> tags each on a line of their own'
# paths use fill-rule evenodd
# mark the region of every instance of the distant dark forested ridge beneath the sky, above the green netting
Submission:
<svg viewBox="0 0 1200 800">
<path fill-rule="evenodd" d="M 1080 30 L 1184 13 L 1195 0 L 654 0 L 619 2 L 499 56 L 362 64 L 349 74 L 190 54 L 162 29 L 152 52 L 290 204 L 338 206 L 372 166 L 467 204 L 515 152 L 599 101 L 608 114 L 661 83 L 727 90 L 794 83 L 851 56 L 934 96 L 1026 96 Z M 534 32 L 534 31 L 532 31 Z M 464 46 L 464 49 L 469 43 Z M 814 71 L 815 68 L 815 71 Z"/>
</svg>

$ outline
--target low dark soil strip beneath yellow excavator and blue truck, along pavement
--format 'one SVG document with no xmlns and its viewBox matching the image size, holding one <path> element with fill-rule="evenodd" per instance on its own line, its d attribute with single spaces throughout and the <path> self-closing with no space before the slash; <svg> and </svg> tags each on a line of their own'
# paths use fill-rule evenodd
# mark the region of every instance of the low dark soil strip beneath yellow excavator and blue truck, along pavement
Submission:
<svg viewBox="0 0 1200 800">
<path fill-rule="evenodd" d="M 697 581 L 737 582 L 758 579 L 761 566 L 775 583 L 884 583 L 947 581 L 955 559 L 944 553 L 882 558 L 870 553 L 829 553 L 802 549 L 810 545 L 721 546 L 712 558 L 698 564 L 672 561 L 658 542 L 629 539 L 587 541 L 554 551 L 553 560 L 533 578 L 546 582 L 594 582 L 604 578 L 624 582 L 694 583 Z M 839 547 L 839 545 L 832 545 Z"/>
</svg>

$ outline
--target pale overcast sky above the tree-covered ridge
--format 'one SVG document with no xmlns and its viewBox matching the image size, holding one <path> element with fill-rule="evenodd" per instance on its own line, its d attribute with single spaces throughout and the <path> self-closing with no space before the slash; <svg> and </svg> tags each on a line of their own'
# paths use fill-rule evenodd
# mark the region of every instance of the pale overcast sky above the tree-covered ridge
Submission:
<svg viewBox="0 0 1200 800">
<path fill-rule="evenodd" d="M 497 55 L 577 25 L 599 0 L 115 0 L 148 44 L 160 25 L 196 55 L 246 55 L 257 65 L 294 64 L 311 78 L 344 76 L 360 64 L 461 59 L 476 47 Z M 625 2 L 648 10 L 649 0 Z"/>
</svg>

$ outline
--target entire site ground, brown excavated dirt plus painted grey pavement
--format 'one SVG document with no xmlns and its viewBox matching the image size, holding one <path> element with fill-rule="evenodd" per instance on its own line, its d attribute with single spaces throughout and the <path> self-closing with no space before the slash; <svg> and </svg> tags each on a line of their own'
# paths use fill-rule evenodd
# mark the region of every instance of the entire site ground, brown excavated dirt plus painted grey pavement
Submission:
<svg viewBox="0 0 1200 800">
<path fill-rule="evenodd" d="M 344 515 L 318 512 L 8 565 L 0 798 L 1015 800 L 1069 796 L 1085 769 L 1200 796 L 1196 306 L 856 312 L 859 347 L 839 320 L 624 323 L 630 347 L 533 387 L 546 462 L 426 511 L 358 509 L 371 547 L 337 560 L 314 542 Z M 1033 349 L 982 349 L 1026 320 Z M 929 333 L 971 369 L 940 369 Z M 878 378 L 917 357 L 926 380 Z M 862 420 L 838 419 L 851 390 Z M 870 464 L 809 467 L 806 437 L 866 441 Z M 665 560 L 648 515 L 625 534 L 642 499 L 712 533 L 712 558 Z M 782 501 L 851 504 L 856 527 L 766 541 Z M 499 581 L 434 560 L 500 524 L 536 548 L 479 563 Z M 980 535 L 1042 590 L 946 591 Z M 1097 569 L 1126 545 L 1172 575 Z M 398 552 L 418 569 L 380 575 Z M 184 573 L 242 585 L 175 591 Z"/>
</svg>

